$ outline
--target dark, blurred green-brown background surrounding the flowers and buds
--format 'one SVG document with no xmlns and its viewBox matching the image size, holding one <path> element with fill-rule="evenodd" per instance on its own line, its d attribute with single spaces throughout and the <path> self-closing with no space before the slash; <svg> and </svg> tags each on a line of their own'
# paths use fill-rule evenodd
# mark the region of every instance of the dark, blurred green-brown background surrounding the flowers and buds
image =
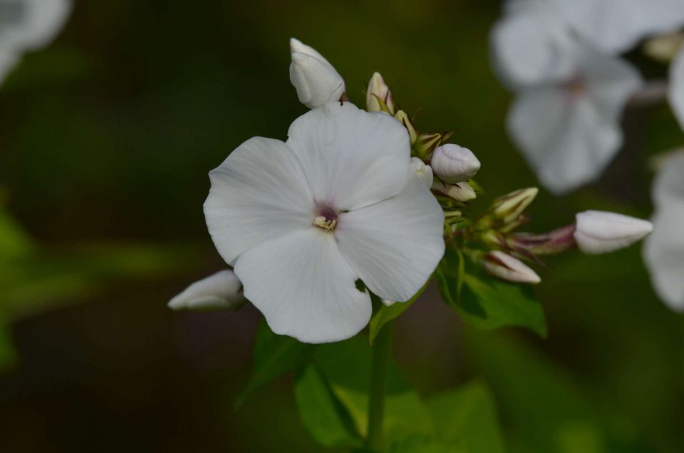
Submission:
<svg viewBox="0 0 684 453">
<path fill-rule="evenodd" d="M 489 63 L 499 2 L 76 3 L 0 88 L 0 451 L 322 451 L 290 377 L 233 410 L 254 308 L 166 307 L 225 267 L 202 214 L 207 172 L 249 137 L 284 139 L 306 111 L 289 83 L 296 36 L 353 102 L 380 71 L 419 130 L 455 130 L 482 161 L 482 207 L 536 185 Z M 623 123 L 601 182 L 542 192 L 535 231 L 590 208 L 650 216 L 648 160 L 682 132 L 666 105 Z M 398 320 L 400 370 L 422 395 L 487 382 L 513 452 L 681 452 L 684 318 L 653 293 L 640 247 L 550 259 L 546 340 L 472 331 L 430 288 Z"/>
</svg>

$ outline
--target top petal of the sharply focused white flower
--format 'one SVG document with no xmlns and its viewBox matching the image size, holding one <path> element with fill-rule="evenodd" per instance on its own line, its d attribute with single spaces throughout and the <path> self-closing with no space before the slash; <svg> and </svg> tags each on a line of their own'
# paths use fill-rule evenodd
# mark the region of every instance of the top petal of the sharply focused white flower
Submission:
<svg viewBox="0 0 684 453">
<path fill-rule="evenodd" d="M 328 103 L 288 131 L 317 202 L 356 209 L 398 194 L 407 181 L 408 132 L 385 113 Z"/>
</svg>

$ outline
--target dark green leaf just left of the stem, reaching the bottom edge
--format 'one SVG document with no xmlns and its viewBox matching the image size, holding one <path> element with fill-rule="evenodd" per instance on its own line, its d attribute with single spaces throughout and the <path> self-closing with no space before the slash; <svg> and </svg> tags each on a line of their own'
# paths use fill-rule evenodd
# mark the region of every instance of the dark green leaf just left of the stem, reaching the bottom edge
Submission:
<svg viewBox="0 0 684 453">
<path fill-rule="evenodd" d="M 363 440 L 346 407 L 316 365 L 296 373 L 294 395 L 304 426 L 325 447 L 361 447 Z"/>
</svg>

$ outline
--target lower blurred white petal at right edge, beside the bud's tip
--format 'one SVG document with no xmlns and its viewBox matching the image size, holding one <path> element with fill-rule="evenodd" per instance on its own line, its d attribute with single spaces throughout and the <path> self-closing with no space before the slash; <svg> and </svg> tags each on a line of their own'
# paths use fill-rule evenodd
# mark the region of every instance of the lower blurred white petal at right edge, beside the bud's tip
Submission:
<svg viewBox="0 0 684 453">
<path fill-rule="evenodd" d="M 653 234 L 646 238 L 644 260 L 658 296 L 684 311 L 684 207 L 659 209 L 653 217 Z"/>
</svg>

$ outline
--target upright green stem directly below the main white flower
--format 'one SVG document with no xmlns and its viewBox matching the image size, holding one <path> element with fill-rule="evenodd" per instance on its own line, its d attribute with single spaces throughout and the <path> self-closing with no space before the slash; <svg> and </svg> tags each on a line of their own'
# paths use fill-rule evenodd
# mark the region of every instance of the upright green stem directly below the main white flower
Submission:
<svg viewBox="0 0 684 453">
<path fill-rule="evenodd" d="M 366 446 L 380 451 L 383 448 L 383 415 L 385 414 L 385 390 L 388 365 L 392 350 L 392 323 L 380 329 L 373 343 L 371 387 L 368 395 L 368 437 Z"/>
</svg>

